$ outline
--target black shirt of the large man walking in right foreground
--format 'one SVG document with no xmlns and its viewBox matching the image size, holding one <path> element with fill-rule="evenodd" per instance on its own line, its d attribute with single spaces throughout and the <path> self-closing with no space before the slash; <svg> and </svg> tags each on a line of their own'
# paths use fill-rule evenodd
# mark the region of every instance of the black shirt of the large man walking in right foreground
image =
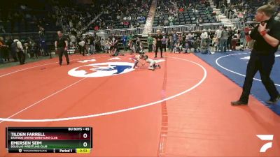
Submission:
<svg viewBox="0 0 280 157">
<path fill-rule="evenodd" d="M 280 22 L 274 20 L 273 17 L 264 22 L 267 23 L 266 30 L 269 36 L 272 36 L 280 41 Z M 264 55 L 276 52 L 278 46 L 272 47 L 272 45 L 269 45 L 269 43 L 267 43 L 258 32 L 258 27 L 259 25 L 255 27 L 255 29 L 253 29 L 253 31 L 250 33 L 250 37 L 255 40 L 252 52 Z"/>
</svg>

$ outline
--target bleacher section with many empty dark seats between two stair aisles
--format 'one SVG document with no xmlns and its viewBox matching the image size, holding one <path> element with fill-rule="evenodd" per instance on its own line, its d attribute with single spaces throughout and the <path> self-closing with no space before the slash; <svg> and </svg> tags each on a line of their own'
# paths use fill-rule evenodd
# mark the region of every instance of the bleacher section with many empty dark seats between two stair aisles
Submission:
<svg viewBox="0 0 280 157">
<path fill-rule="evenodd" d="M 209 1 L 158 1 L 158 8 L 153 26 L 217 22 L 212 12 L 213 8 L 211 8 Z M 172 20 L 172 18 L 174 18 L 174 20 Z"/>
</svg>

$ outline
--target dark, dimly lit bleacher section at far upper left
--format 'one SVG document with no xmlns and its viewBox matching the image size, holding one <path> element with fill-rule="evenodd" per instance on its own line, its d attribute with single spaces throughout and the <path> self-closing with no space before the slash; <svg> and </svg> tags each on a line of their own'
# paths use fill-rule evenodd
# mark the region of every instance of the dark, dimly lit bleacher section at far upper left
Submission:
<svg viewBox="0 0 280 157">
<path fill-rule="evenodd" d="M 7 33 L 35 32 L 38 31 L 38 25 L 45 31 L 57 31 L 62 27 L 71 29 L 68 26 L 70 20 L 76 26 L 79 20 L 86 25 L 100 12 L 99 5 L 103 3 L 102 0 L 96 0 L 96 6 L 90 6 L 74 0 L 9 2 L 0 6 L 0 25 Z"/>
</svg>

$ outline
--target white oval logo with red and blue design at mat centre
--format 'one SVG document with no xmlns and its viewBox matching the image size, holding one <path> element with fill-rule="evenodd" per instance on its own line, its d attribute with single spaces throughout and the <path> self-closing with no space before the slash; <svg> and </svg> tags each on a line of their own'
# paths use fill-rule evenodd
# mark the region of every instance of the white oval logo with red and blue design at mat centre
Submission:
<svg viewBox="0 0 280 157">
<path fill-rule="evenodd" d="M 92 63 L 69 70 L 68 74 L 73 77 L 106 77 L 129 73 L 134 70 L 134 63 L 106 62 Z"/>
</svg>

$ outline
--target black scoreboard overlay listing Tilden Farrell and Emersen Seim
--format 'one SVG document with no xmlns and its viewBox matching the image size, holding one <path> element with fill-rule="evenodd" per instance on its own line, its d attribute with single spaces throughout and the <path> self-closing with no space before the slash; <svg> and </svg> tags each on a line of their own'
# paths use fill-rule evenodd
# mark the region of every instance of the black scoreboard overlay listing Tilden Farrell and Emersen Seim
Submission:
<svg viewBox="0 0 280 157">
<path fill-rule="evenodd" d="M 8 153 L 90 153 L 92 127 L 7 127 Z"/>
</svg>

